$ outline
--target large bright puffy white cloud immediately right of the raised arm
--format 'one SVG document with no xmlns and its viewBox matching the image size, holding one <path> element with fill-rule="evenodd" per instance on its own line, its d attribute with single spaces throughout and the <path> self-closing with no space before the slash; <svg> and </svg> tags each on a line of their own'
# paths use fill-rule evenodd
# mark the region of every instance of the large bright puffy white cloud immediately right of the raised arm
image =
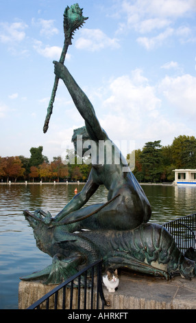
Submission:
<svg viewBox="0 0 196 323">
<path fill-rule="evenodd" d="M 140 69 L 132 77 L 121 76 L 110 82 L 110 96 L 103 102 L 101 126 L 111 139 L 136 140 L 158 118 L 161 100 Z"/>
</svg>

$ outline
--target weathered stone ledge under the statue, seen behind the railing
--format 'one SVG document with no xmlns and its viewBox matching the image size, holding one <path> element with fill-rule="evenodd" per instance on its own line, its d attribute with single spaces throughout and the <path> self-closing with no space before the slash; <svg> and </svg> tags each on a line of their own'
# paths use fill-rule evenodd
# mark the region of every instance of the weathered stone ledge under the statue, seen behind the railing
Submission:
<svg viewBox="0 0 196 323">
<path fill-rule="evenodd" d="M 27 309 L 54 287 L 56 285 L 21 281 L 19 309 Z M 69 307 L 69 292 L 66 293 L 67 307 Z M 106 309 L 196 309 L 196 278 L 185 280 L 175 276 L 167 281 L 164 278 L 121 271 L 119 289 L 115 293 L 109 293 L 103 287 L 103 293 L 106 301 L 110 302 L 110 307 Z M 73 309 L 77 309 L 77 289 L 74 289 L 73 300 Z M 58 301 L 58 309 L 60 309 L 62 295 L 58 297 Z M 50 304 L 53 307 L 53 300 Z M 90 308 L 89 304 L 90 292 L 87 292 L 87 309 Z"/>
</svg>

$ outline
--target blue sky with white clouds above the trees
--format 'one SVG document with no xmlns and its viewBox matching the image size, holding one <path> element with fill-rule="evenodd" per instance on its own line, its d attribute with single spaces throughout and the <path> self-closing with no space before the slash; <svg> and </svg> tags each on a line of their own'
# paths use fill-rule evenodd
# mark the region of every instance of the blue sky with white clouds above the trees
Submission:
<svg viewBox="0 0 196 323">
<path fill-rule="evenodd" d="M 66 67 L 87 94 L 111 140 L 173 142 L 194 135 L 196 1 L 81 0 L 88 16 L 75 32 Z M 64 42 L 69 0 L 1 0 L 1 150 L 24 155 L 43 146 L 50 160 L 71 148 L 83 126 L 62 81 L 47 133 L 53 60 Z"/>
</svg>

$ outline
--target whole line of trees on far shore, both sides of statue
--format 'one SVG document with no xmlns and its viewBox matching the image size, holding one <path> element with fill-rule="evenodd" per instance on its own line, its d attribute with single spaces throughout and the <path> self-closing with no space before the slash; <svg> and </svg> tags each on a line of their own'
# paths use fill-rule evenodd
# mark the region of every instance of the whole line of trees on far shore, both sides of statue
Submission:
<svg viewBox="0 0 196 323">
<path fill-rule="evenodd" d="M 169 146 L 162 146 L 160 140 L 147 142 L 143 149 L 131 154 L 135 155 L 133 173 L 141 182 L 171 182 L 174 180 L 175 168 L 196 168 L 196 139 L 194 136 L 180 135 L 175 137 Z M 92 167 L 91 164 L 62 162 L 61 157 L 53 157 L 53 161 L 42 155 L 43 147 L 32 147 L 31 157 L 23 155 L 0 157 L 1 181 L 86 181 Z M 69 155 L 70 151 L 68 151 Z M 76 157 L 75 157 L 76 158 Z M 127 155 L 130 159 L 130 154 Z"/>
</svg>

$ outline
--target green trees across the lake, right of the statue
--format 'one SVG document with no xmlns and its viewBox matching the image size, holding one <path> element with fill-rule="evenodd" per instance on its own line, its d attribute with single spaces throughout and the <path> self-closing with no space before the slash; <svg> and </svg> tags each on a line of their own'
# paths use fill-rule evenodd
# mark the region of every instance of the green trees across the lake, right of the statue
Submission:
<svg viewBox="0 0 196 323">
<path fill-rule="evenodd" d="M 196 168 L 196 139 L 194 136 L 180 135 L 172 144 L 162 146 L 160 140 L 147 142 L 142 150 L 135 151 L 136 179 L 140 182 L 171 182 L 175 179 L 175 169 Z"/>
</svg>

